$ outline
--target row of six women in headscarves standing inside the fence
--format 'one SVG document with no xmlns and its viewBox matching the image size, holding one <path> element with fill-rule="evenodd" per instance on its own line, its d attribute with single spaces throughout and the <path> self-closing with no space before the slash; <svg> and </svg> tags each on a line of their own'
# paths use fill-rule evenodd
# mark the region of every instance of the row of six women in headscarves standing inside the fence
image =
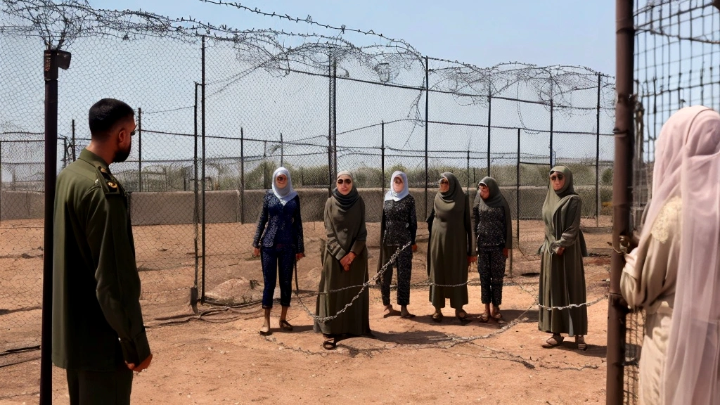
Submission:
<svg viewBox="0 0 720 405">
<path fill-rule="evenodd" d="M 552 334 L 545 347 L 559 345 L 562 334 L 569 334 L 575 336 L 582 349 L 585 347 L 583 335 L 588 329 L 587 308 L 563 308 L 585 303 L 582 257 L 587 252 L 580 231 L 581 202 L 572 188 L 572 173 L 567 167 L 552 169 L 550 185 L 543 206 L 546 231 L 541 246 L 539 329 Z M 417 249 L 415 215 L 415 199 L 408 190 L 408 177 L 403 172 L 395 172 L 390 180 L 390 190 L 384 196 L 378 260 L 385 316 L 414 316 L 408 311 L 408 305 L 413 252 Z M 369 280 L 365 203 L 350 172 L 338 173 L 336 187 L 325 203 L 324 218 L 327 241 L 321 252 L 323 271 L 314 329 L 325 335 L 324 346 L 330 349 L 342 335 L 371 334 L 369 292 L 364 288 Z M 427 222 L 427 268 L 431 282 L 429 299 L 435 308 L 433 321 L 443 320 L 442 308 L 448 299 L 459 321 L 471 320 L 464 306 L 468 303 L 468 268 L 476 261 L 481 301 L 485 306 L 478 319 L 482 322 L 502 321 L 500 305 L 505 260 L 513 239 L 510 208 L 497 182 L 491 177 L 482 179 L 471 208 L 458 179 L 449 172 L 443 173 Z M 300 199 L 292 189 L 289 172 L 283 167 L 273 174 L 272 190 L 264 197 L 253 247 L 254 254 L 261 257 L 264 276 L 265 321 L 260 332 L 268 334 L 270 331 L 278 273 L 282 306 L 279 327 L 292 331 L 286 318 L 292 270 L 294 262 L 305 254 Z M 397 269 L 400 311 L 390 303 L 393 267 Z"/>
</svg>

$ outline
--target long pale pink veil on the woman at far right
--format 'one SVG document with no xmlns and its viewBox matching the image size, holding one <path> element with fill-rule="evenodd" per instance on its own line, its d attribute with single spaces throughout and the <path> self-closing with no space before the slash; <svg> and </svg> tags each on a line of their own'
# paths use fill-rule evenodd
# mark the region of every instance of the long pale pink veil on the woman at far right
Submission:
<svg viewBox="0 0 720 405">
<path fill-rule="evenodd" d="M 707 107 L 683 108 L 662 126 L 641 243 L 675 196 L 680 268 L 662 396 L 665 405 L 720 404 L 720 115 Z"/>
</svg>

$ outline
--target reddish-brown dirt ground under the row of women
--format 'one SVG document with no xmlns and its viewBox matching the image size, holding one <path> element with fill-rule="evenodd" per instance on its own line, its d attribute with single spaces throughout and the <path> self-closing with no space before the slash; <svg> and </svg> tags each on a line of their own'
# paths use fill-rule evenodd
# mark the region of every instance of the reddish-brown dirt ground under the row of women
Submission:
<svg viewBox="0 0 720 405">
<path fill-rule="evenodd" d="M 586 221 L 588 221 L 586 223 Z M 294 331 L 258 334 L 260 264 L 250 257 L 254 227 L 208 226 L 205 263 L 207 297 L 233 308 L 201 305 L 199 315 L 188 305 L 194 283 L 194 228 L 135 228 L 138 264 L 143 281 L 143 311 L 153 363 L 135 375 L 133 404 L 598 404 L 605 403 L 606 326 L 610 240 L 607 218 L 583 220 L 590 257 L 585 259 L 590 331 L 588 350 L 567 340 L 561 347 L 541 348 L 547 335 L 537 330 L 539 257 L 542 241 L 536 221 L 521 221 L 521 249 L 513 252 L 513 271 L 505 278 L 503 316 L 506 323 L 462 325 L 449 306 L 445 319 L 431 320 L 424 263 L 427 231 L 418 230 L 413 260 L 410 311 L 417 317 L 384 318 L 379 289 L 370 289 L 370 326 L 375 338 L 353 337 L 336 350 L 322 347 L 312 332 L 320 277 L 322 224 L 305 224 L 306 252 L 298 267 L 300 298 L 294 297 L 288 320 Z M 41 224 L 40 224 L 41 226 Z M 368 224 L 370 275 L 377 269 L 377 224 Z M 37 404 L 42 228 L 37 223 L 4 221 L 0 227 L 0 405 Z M 471 269 L 469 305 L 482 312 L 477 272 Z M 202 286 L 202 275 L 200 285 Z M 202 287 L 201 287 L 202 288 Z M 395 300 L 395 292 L 392 293 Z M 241 304 L 243 301 L 249 303 Z M 68 404 L 64 370 L 53 369 L 53 404 Z"/>
</svg>

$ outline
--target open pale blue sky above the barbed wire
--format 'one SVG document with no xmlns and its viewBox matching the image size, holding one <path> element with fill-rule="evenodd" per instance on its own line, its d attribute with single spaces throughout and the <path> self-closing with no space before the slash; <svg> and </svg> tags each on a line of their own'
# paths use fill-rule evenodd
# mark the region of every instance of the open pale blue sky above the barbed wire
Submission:
<svg viewBox="0 0 720 405">
<path fill-rule="evenodd" d="M 259 17 L 199 0 L 90 0 L 98 8 L 192 16 L 238 29 L 307 30 L 303 23 Z M 588 66 L 614 76 L 615 7 L 600 0 L 428 1 L 277 0 L 244 6 L 400 38 L 421 53 L 492 66 L 503 62 Z"/>
</svg>

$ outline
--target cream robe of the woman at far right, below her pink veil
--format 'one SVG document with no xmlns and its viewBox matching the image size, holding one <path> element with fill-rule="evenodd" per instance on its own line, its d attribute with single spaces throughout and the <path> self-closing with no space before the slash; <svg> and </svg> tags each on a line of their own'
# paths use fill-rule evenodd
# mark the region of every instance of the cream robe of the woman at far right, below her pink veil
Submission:
<svg viewBox="0 0 720 405">
<path fill-rule="evenodd" d="M 665 203 L 652 223 L 647 240 L 626 255 L 620 290 L 633 311 L 644 310 L 639 376 L 640 404 L 661 404 L 660 387 L 665 372 L 667 340 L 675 302 L 675 280 L 680 263 L 680 210 L 682 200 Z"/>
</svg>

